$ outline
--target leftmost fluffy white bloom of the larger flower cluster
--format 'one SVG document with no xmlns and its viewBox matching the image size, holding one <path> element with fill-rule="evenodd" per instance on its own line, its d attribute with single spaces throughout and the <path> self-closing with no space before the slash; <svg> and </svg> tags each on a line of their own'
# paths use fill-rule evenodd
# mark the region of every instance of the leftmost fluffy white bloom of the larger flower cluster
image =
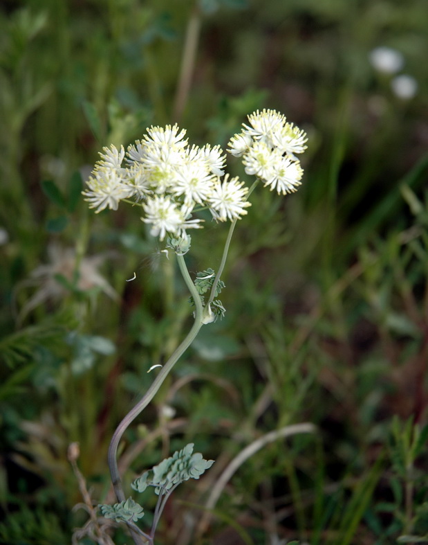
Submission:
<svg viewBox="0 0 428 545">
<path fill-rule="evenodd" d="M 93 176 L 86 181 L 87 189 L 82 191 L 89 208 L 97 208 L 95 213 L 104 208 L 118 210 L 119 201 L 127 199 L 133 190 L 124 183 L 124 179 L 114 170 L 100 168 L 94 170 Z"/>
</svg>

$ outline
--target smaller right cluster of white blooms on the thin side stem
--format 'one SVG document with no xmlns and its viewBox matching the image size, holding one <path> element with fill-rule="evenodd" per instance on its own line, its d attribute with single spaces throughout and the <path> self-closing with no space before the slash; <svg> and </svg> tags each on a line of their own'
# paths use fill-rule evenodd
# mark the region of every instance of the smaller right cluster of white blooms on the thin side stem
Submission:
<svg viewBox="0 0 428 545">
<path fill-rule="evenodd" d="M 282 195 L 297 191 L 303 169 L 295 154 L 306 150 L 306 133 L 275 110 L 257 110 L 248 121 L 250 125 L 243 124 L 243 131 L 230 139 L 227 151 L 243 157 L 245 172 L 271 191 Z"/>
</svg>

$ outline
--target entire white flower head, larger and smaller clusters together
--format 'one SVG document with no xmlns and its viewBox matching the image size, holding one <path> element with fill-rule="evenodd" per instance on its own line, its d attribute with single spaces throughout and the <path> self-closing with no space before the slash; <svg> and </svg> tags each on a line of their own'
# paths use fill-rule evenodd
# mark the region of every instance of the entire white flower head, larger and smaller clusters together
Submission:
<svg viewBox="0 0 428 545">
<path fill-rule="evenodd" d="M 286 123 L 274 110 L 248 116 L 250 126 L 235 134 L 229 152 L 243 156 L 245 172 L 261 179 L 278 193 L 295 191 L 303 175 L 295 154 L 306 149 L 306 134 Z M 199 229 L 192 214 L 210 210 L 216 221 L 237 220 L 247 213 L 248 188 L 238 177 L 224 175 L 225 154 L 220 146 L 189 146 L 178 125 L 150 127 L 142 140 L 103 148 L 100 159 L 82 193 L 91 208 L 117 210 L 121 200 L 133 199 L 144 211 L 143 222 L 151 235 L 163 240 L 185 237 L 187 229 Z"/>
</svg>

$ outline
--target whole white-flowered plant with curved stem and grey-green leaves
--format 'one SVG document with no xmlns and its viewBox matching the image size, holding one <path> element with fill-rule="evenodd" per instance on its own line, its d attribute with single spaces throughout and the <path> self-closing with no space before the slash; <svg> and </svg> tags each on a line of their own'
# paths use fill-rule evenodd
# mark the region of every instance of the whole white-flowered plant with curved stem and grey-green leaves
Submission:
<svg viewBox="0 0 428 545">
<path fill-rule="evenodd" d="M 271 191 L 286 195 L 301 184 L 303 170 L 296 154 L 306 149 L 306 134 L 274 110 L 256 111 L 248 116 L 248 121 L 230 139 L 227 151 L 242 157 L 246 174 L 257 178 L 251 188 L 238 177 L 225 175 L 226 156 L 220 146 L 190 146 L 184 129 L 167 125 L 150 127 L 143 139 L 129 145 L 126 152 L 123 146 L 120 150 L 114 145 L 104 148 L 83 192 L 95 212 L 104 208 L 117 210 L 120 202 L 140 207 L 141 220 L 150 226 L 150 234 L 161 242 L 166 239 L 167 249 L 176 254 L 194 306 L 194 324 L 187 337 L 162 366 L 142 399 L 120 422 L 109 447 L 111 480 L 118 503 L 101 506 L 102 513 L 104 517 L 126 522 L 136 544 L 153 544 L 156 525 L 171 492 L 183 481 L 198 479 L 213 461 L 204 460 L 199 453 L 192 454 L 193 445 L 189 444 L 134 481 L 134 490 L 142 492 L 152 485 L 159 496 L 153 525 L 145 533 L 135 524 L 144 515 L 142 507 L 133 499 L 126 499 L 122 488 L 117 463 L 120 439 L 156 395 L 201 327 L 224 315 L 225 308 L 216 298 L 225 286 L 220 277 L 234 227 L 248 213 L 251 206 L 248 197 L 255 186 L 262 181 Z M 217 271 L 206 269 L 192 280 L 184 258 L 191 246 L 187 231 L 202 228 L 203 220 L 197 214 L 203 210 L 210 211 L 214 221 L 231 224 Z"/>
</svg>

